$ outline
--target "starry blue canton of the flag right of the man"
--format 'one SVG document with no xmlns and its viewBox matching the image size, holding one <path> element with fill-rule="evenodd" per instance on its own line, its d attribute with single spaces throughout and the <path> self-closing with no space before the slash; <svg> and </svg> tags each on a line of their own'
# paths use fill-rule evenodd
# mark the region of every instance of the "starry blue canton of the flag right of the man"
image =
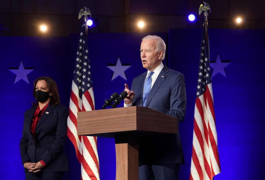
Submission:
<svg viewBox="0 0 265 180">
<path fill-rule="evenodd" d="M 211 83 L 210 56 L 208 48 L 209 44 L 207 43 L 208 42 L 206 42 L 206 33 L 204 28 L 201 41 L 200 64 L 197 80 L 197 97 L 202 95 L 206 91 L 206 85 Z"/>
</svg>

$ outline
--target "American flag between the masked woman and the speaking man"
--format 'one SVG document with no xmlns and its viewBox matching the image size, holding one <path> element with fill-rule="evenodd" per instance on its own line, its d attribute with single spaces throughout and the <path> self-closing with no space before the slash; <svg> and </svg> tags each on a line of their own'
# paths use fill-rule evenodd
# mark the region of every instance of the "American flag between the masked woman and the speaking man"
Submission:
<svg viewBox="0 0 265 180">
<path fill-rule="evenodd" d="M 72 141 L 81 164 L 81 179 L 99 180 L 99 158 L 96 137 L 77 135 L 77 112 L 95 110 L 91 67 L 85 26 L 79 36 L 72 91 L 67 120 L 67 136 Z"/>
</svg>

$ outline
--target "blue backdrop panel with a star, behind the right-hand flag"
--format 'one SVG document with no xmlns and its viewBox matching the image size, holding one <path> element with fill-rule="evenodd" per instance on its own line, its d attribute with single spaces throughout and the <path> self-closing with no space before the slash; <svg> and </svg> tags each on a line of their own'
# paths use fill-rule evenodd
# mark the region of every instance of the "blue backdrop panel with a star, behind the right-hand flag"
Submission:
<svg viewBox="0 0 265 180">
<path fill-rule="evenodd" d="M 197 29 L 169 31 L 170 68 L 184 74 L 187 90 L 186 116 L 180 123 L 182 179 L 188 179 L 191 164 L 201 36 Z M 212 84 L 221 173 L 214 180 L 264 177 L 264 41 L 264 30 L 209 29 L 210 65 L 218 64 Z"/>
</svg>

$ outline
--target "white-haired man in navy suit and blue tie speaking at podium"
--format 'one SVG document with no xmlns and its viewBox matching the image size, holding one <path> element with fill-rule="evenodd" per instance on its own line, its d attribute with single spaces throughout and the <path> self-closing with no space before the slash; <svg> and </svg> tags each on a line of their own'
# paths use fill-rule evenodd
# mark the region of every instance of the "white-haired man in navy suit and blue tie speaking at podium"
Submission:
<svg viewBox="0 0 265 180">
<path fill-rule="evenodd" d="M 184 76 L 166 67 L 166 44 L 158 36 L 145 36 L 141 43 L 141 59 L 147 72 L 135 77 L 131 86 L 125 84 L 128 93 L 124 106 L 143 106 L 183 121 L 186 110 Z M 176 180 L 179 164 L 183 164 L 179 133 L 144 136 L 139 144 L 140 180 Z"/>
</svg>

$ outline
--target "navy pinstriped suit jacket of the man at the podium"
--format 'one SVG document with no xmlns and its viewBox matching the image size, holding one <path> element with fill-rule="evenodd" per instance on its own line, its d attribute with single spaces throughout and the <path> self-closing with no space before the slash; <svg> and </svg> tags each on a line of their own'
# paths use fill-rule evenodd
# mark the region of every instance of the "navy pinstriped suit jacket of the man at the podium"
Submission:
<svg viewBox="0 0 265 180">
<path fill-rule="evenodd" d="M 133 106 L 143 106 L 143 88 L 147 72 L 134 78 Z M 183 121 L 186 110 L 184 76 L 164 65 L 147 97 L 145 107 L 157 110 Z M 179 133 L 144 136 L 140 138 L 139 165 L 184 163 Z"/>
</svg>

